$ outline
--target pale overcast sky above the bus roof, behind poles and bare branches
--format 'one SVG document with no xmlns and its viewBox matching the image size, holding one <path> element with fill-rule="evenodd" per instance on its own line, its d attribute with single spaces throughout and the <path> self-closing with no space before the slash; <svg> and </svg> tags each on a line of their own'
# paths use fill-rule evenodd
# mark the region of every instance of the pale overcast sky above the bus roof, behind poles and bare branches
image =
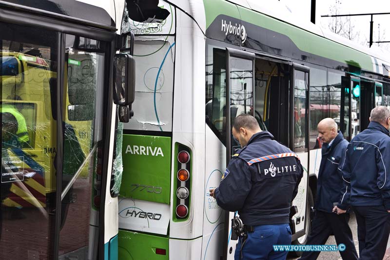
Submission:
<svg viewBox="0 0 390 260">
<path fill-rule="evenodd" d="M 292 13 L 310 21 L 311 0 L 280 0 L 284 2 Z M 361 13 L 390 13 L 390 0 L 339 0 L 340 14 L 361 14 Z M 335 4 L 335 0 L 316 0 L 315 22 L 328 29 L 331 18 L 321 17 L 321 15 L 331 15 L 330 7 Z M 378 24 L 380 24 L 381 37 L 390 41 L 390 15 L 373 16 L 373 41 L 378 40 Z M 370 40 L 370 16 L 351 17 L 351 22 L 355 24 L 355 30 L 360 31 L 359 43 Z M 377 43 L 374 43 L 377 44 Z M 390 43 L 381 43 L 382 48 L 390 51 Z"/>
</svg>

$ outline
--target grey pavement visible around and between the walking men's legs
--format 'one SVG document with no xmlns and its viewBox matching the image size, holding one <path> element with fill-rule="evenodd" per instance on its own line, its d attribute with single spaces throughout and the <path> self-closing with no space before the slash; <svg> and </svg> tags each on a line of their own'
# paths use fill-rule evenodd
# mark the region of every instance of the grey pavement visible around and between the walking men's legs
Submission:
<svg viewBox="0 0 390 260">
<path fill-rule="evenodd" d="M 357 223 L 356 223 L 355 214 L 353 212 L 351 213 L 351 217 L 350 217 L 350 227 L 352 230 L 352 236 L 353 236 L 353 241 L 355 242 L 356 251 L 359 254 L 359 246 L 357 241 Z M 331 236 L 326 242 L 326 244 L 335 245 L 336 240 L 334 239 L 334 236 Z M 384 260 L 390 260 L 390 240 L 388 241 L 387 248 L 389 250 L 387 250 Z M 289 256 L 287 259 L 293 260 L 298 258 Z M 339 252 L 321 252 L 320 255 L 318 256 L 318 260 L 336 260 L 336 259 L 341 260 Z"/>
</svg>

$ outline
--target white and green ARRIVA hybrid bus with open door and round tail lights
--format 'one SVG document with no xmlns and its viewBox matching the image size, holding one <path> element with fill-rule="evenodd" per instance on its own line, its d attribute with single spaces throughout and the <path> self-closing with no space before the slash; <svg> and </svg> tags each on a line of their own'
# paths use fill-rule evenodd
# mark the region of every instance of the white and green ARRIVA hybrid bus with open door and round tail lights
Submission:
<svg viewBox="0 0 390 260">
<path fill-rule="evenodd" d="M 334 118 L 351 140 L 372 107 L 389 106 L 389 55 L 296 20 L 278 1 L 159 0 L 170 13 L 160 23 L 137 21 L 146 11 L 134 2 L 121 27 L 135 34 L 137 68 L 119 259 L 233 259 L 233 213 L 209 189 L 238 146 L 231 126 L 241 113 L 301 159 L 291 226 L 292 243 L 304 244 L 321 160 L 316 125 Z"/>
</svg>

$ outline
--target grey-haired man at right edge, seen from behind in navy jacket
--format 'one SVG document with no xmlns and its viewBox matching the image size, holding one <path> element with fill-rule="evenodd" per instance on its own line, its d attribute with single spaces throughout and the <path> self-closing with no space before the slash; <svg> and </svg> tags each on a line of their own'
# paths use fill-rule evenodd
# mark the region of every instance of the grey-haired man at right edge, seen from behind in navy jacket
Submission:
<svg viewBox="0 0 390 260">
<path fill-rule="evenodd" d="M 390 111 L 371 110 L 369 127 L 354 137 L 341 165 L 344 187 L 338 208 L 353 206 L 360 259 L 383 259 L 390 234 Z"/>
</svg>

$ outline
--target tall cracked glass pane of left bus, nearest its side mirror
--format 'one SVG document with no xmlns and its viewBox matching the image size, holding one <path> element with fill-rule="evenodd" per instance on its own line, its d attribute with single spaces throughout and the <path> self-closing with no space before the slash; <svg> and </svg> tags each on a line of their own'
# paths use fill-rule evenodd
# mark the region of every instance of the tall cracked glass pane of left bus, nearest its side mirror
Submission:
<svg viewBox="0 0 390 260">
<path fill-rule="evenodd" d="M 98 150 L 101 157 L 106 45 L 73 35 L 66 35 L 65 42 L 59 256 L 95 259 L 88 256 L 88 252 L 96 254 L 98 246 L 98 237 L 89 238 L 89 220 L 98 220 L 100 208 Z"/>
</svg>

